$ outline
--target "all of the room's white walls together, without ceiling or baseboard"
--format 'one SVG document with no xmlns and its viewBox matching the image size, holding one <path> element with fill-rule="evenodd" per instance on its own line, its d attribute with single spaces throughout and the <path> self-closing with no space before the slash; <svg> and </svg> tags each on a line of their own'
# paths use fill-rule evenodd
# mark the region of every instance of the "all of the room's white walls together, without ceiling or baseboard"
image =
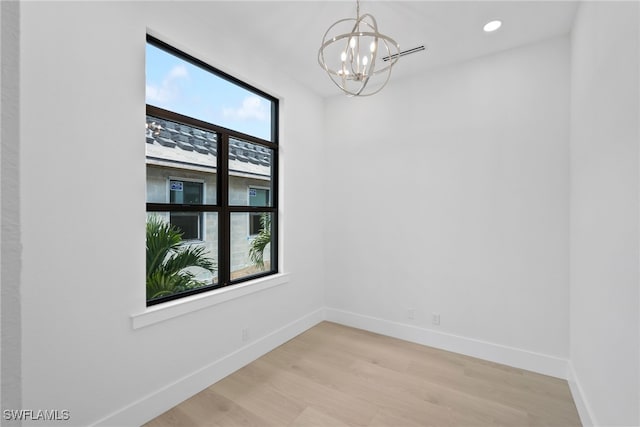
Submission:
<svg viewBox="0 0 640 427">
<path fill-rule="evenodd" d="M 212 25 L 200 7 L 21 3 L 20 153 L 5 156 L 13 146 L 2 142 L 2 222 L 19 215 L 21 234 L 8 241 L 3 228 L 2 302 L 5 279 L 16 292 L 21 282 L 22 313 L 9 320 L 22 334 L 2 360 L 3 374 L 7 354 L 21 368 L 23 408 L 68 409 L 74 425 L 142 422 L 195 391 L 191 374 L 202 369 L 206 384 L 255 354 L 242 328 L 263 351 L 326 300 L 329 317 L 409 326 L 559 376 L 562 364 L 544 362 L 571 355 L 591 419 L 639 424 L 637 4 L 583 5 L 573 54 L 558 38 L 326 103 L 247 55 L 234 22 Z M 147 29 L 282 98 L 292 274 L 134 330 L 145 300 Z M 5 192 L 7 173 L 19 192 Z M 22 268 L 6 270 L 6 248 L 20 245 Z"/>
</svg>

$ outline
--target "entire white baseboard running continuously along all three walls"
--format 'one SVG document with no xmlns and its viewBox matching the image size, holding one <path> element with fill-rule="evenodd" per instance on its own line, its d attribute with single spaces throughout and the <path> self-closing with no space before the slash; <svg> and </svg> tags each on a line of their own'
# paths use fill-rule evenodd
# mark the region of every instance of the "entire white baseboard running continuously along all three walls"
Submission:
<svg viewBox="0 0 640 427">
<path fill-rule="evenodd" d="M 573 385 L 571 381 L 569 384 L 583 424 L 594 425 L 586 422 L 593 420 L 593 417 L 590 415 L 589 406 L 582 398 L 583 394 L 575 379 L 575 373 L 573 370 L 571 373 L 568 372 L 570 365 L 565 359 L 357 313 L 321 308 L 119 409 L 96 421 L 92 426 L 144 424 L 323 320 L 557 378 L 567 379 L 570 375 L 574 382 Z"/>
</svg>

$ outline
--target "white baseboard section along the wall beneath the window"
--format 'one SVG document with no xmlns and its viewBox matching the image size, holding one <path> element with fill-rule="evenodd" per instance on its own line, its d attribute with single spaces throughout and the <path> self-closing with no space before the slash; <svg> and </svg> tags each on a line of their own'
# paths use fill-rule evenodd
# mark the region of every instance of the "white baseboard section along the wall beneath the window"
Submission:
<svg viewBox="0 0 640 427">
<path fill-rule="evenodd" d="M 103 427 L 142 425 L 323 320 L 324 309 L 309 313 L 92 425 Z"/>
</svg>

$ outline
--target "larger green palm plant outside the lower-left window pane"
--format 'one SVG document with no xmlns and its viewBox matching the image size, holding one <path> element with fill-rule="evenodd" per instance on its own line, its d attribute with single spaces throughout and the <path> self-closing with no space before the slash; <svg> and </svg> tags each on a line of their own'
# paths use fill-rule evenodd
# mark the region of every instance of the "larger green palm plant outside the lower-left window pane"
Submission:
<svg viewBox="0 0 640 427">
<path fill-rule="evenodd" d="M 216 269 L 204 247 L 183 245 L 177 227 L 157 215 L 147 219 L 147 300 L 203 286 L 189 267 Z"/>
</svg>

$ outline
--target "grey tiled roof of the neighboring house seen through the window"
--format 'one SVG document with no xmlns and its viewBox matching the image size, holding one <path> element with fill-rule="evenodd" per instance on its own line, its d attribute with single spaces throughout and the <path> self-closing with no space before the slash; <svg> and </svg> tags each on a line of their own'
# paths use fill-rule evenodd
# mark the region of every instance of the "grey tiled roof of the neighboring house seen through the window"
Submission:
<svg viewBox="0 0 640 427">
<path fill-rule="evenodd" d="M 180 123 L 147 116 L 147 164 L 212 172 L 217 164 L 217 135 Z M 271 176 L 272 150 L 229 139 L 229 172 L 234 175 Z"/>
</svg>

